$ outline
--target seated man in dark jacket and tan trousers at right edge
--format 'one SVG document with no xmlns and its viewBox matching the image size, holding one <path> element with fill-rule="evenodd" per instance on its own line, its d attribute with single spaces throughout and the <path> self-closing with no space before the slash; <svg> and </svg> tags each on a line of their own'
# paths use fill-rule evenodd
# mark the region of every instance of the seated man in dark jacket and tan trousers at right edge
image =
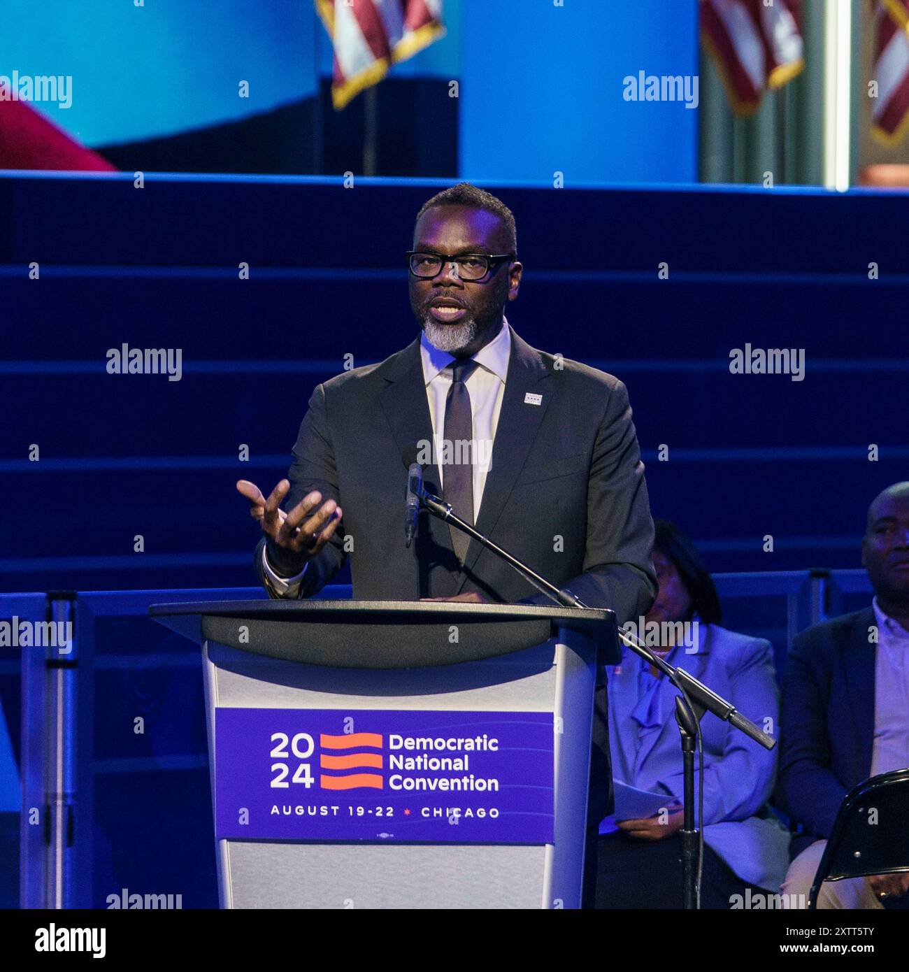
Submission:
<svg viewBox="0 0 909 972">
<path fill-rule="evenodd" d="M 777 791 L 804 828 L 791 843 L 787 894 L 807 896 L 846 794 L 909 766 L 909 482 L 871 503 L 861 563 L 871 606 L 802 632 L 787 661 Z M 907 874 L 825 883 L 818 906 L 881 907 L 907 889 Z"/>
</svg>

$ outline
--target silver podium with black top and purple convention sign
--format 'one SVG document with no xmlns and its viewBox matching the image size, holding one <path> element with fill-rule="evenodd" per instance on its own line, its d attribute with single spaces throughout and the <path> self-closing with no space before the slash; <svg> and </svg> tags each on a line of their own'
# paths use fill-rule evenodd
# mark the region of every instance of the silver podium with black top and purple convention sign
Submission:
<svg viewBox="0 0 909 972">
<path fill-rule="evenodd" d="M 611 610 L 153 605 L 202 649 L 223 908 L 577 908 Z"/>
</svg>

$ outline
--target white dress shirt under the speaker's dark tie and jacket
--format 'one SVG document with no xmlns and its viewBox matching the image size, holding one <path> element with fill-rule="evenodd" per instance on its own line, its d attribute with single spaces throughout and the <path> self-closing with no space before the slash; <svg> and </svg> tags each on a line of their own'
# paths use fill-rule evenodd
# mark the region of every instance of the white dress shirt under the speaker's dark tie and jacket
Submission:
<svg viewBox="0 0 909 972">
<path fill-rule="evenodd" d="M 508 373 L 508 359 L 511 355 L 511 333 L 505 316 L 502 329 L 486 345 L 473 355 L 478 367 L 473 368 L 465 382 L 471 396 L 472 447 L 473 447 L 473 522 L 479 517 L 480 504 L 486 476 L 492 468 L 492 445 L 499 425 L 502 399 Z M 426 397 L 430 407 L 430 421 L 433 424 L 435 442 L 434 459 L 440 458 L 442 440 L 445 434 L 445 400 L 451 388 L 451 368 L 447 365 L 455 360 L 447 351 L 439 351 L 426 339 L 420 337 L 420 360 L 423 364 L 423 380 L 426 383 Z M 436 464 L 438 466 L 438 464 Z M 439 487 L 444 489 L 442 469 L 438 468 Z M 295 577 L 280 577 L 268 563 L 265 548 L 262 547 L 262 568 L 273 592 L 282 598 L 296 598 L 300 580 L 306 568 Z"/>
</svg>

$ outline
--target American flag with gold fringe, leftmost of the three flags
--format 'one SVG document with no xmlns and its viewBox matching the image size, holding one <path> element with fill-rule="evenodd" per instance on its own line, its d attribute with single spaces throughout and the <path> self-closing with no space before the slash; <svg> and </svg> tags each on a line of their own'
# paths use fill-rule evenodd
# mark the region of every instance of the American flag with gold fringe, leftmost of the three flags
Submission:
<svg viewBox="0 0 909 972">
<path fill-rule="evenodd" d="M 445 34 L 441 0 L 315 0 L 334 47 L 332 104 L 377 85 L 392 64 Z"/>
</svg>

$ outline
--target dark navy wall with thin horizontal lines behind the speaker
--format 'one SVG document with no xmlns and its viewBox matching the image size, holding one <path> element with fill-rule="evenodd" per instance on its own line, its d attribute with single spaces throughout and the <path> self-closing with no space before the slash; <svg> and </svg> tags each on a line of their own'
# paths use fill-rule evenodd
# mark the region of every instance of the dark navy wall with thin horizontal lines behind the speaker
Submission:
<svg viewBox="0 0 909 972">
<path fill-rule="evenodd" d="M 0 589 L 254 582 L 233 483 L 286 473 L 345 354 L 413 338 L 402 253 L 438 188 L 0 177 Z M 857 567 L 867 503 L 907 478 L 909 195 L 487 188 L 526 267 L 509 321 L 628 384 L 654 515 L 715 572 Z M 181 348 L 182 380 L 106 373 L 123 343 Z M 730 374 L 746 343 L 804 348 L 804 381 Z"/>
</svg>

